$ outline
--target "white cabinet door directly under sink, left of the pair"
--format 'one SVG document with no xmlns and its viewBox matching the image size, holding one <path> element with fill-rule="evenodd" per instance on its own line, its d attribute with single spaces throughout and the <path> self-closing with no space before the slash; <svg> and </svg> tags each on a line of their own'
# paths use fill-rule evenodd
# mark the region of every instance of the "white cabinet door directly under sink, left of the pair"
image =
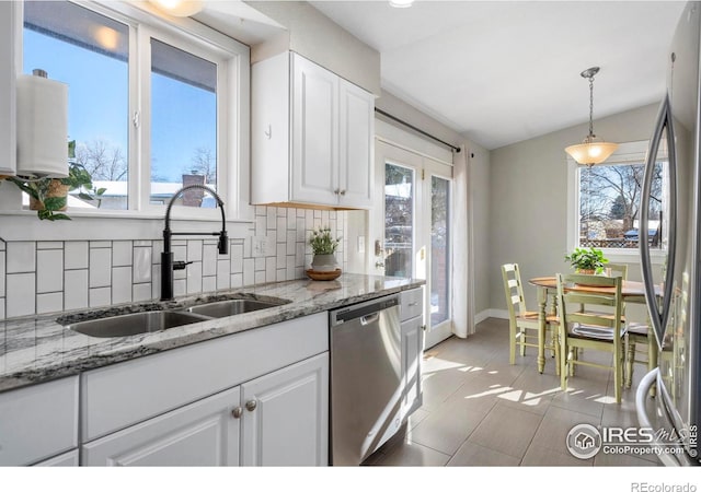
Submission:
<svg viewBox="0 0 701 492">
<path fill-rule="evenodd" d="M 240 387 L 99 438 L 82 447 L 87 466 L 237 466 Z"/>
</svg>

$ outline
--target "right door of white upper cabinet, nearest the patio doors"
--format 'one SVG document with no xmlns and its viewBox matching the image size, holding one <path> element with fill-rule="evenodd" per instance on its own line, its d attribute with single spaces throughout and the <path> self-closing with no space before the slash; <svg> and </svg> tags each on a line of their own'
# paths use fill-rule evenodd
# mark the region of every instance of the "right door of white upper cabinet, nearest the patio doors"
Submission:
<svg viewBox="0 0 701 492">
<path fill-rule="evenodd" d="M 372 207 L 375 96 L 340 82 L 338 187 L 342 207 Z"/>
</svg>

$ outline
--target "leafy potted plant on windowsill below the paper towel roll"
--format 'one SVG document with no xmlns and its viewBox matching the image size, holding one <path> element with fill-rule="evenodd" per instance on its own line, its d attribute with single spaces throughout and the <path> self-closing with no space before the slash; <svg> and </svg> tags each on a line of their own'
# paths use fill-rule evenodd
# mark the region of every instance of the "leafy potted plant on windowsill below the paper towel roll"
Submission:
<svg viewBox="0 0 701 492">
<path fill-rule="evenodd" d="M 105 188 L 94 189 L 92 177 L 82 164 L 76 162 L 76 141 L 68 142 L 68 176 L 65 178 L 25 179 L 16 176 L 8 177 L 18 188 L 30 196 L 30 210 L 36 210 L 39 220 L 70 220 L 62 213 L 68 207 L 68 192 L 78 189 L 78 197 L 83 200 L 97 200 Z"/>
</svg>

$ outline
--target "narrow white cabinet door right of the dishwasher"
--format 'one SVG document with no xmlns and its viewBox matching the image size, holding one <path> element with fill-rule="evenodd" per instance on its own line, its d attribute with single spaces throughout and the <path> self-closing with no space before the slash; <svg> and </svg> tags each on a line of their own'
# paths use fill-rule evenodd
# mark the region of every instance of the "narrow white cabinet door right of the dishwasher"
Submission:
<svg viewBox="0 0 701 492">
<path fill-rule="evenodd" d="M 421 363 L 423 358 L 422 318 L 402 321 L 402 417 L 409 417 L 422 405 Z"/>
</svg>

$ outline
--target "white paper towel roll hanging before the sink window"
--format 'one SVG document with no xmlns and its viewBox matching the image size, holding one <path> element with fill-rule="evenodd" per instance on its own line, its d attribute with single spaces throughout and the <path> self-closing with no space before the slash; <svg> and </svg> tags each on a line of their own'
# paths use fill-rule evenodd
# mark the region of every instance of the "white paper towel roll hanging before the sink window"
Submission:
<svg viewBox="0 0 701 492">
<path fill-rule="evenodd" d="M 68 176 L 68 85 L 18 77 L 18 174 Z"/>
</svg>

